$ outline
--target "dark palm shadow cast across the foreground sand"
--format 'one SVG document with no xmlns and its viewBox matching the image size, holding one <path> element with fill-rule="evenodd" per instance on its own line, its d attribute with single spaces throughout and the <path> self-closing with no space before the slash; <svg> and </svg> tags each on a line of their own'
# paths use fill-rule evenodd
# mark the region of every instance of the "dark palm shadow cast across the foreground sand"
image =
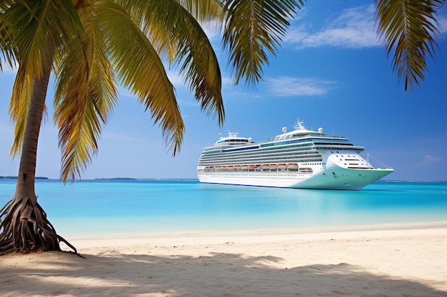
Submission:
<svg viewBox="0 0 447 297">
<path fill-rule="evenodd" d="M 29 265 L 14 265 L 14 257 L 28 257 Z M 0 262 L 0 296 L 447 296 L 351 264 L 278 268 L 282 259 L 274 256 L 109 252 L 81 259 L 51 252 L 6 260 Z"/>
</svg>

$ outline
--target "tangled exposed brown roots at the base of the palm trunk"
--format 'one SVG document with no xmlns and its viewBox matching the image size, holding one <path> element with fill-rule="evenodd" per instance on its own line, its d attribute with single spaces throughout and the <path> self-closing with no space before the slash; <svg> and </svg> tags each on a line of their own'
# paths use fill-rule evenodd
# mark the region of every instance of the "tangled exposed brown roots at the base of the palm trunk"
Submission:
<svg viewBox="0 0 447 297">
<path fill-rule="evenodd" d="M 14 197 L 0 210 L 0 219 L 0 255 L 61 251 L 61 242 L 78 254 L 74 246 L 56 234 L 44 209 L 37 203 L 37 197 Z"/>
</svg>

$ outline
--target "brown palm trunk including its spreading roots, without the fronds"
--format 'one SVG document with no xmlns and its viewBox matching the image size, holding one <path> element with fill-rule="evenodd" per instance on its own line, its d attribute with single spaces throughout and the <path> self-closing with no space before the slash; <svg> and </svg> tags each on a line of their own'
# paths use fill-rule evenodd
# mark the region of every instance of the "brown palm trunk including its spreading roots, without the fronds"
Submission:
<svg viewBox="0 0 447 297">
<path fill-rule="evenodd" d="M 0 217 L 4 217 L 0 225 L 0 255 L 13 251 L 61 251 L 60 241 L 64 241 L 76 253 L 74 246 L 57 235 L 54 227 L 46 219 L 46 213 L 37 202 L 34 189 L 37 144 L 51 73 L 51 63 L 47 64 L 49 65 L 44 67 L 42 77 L 35 78 L 33 83 L 16 192 L 11 202 L 0 211 Z"/>
</svg>

